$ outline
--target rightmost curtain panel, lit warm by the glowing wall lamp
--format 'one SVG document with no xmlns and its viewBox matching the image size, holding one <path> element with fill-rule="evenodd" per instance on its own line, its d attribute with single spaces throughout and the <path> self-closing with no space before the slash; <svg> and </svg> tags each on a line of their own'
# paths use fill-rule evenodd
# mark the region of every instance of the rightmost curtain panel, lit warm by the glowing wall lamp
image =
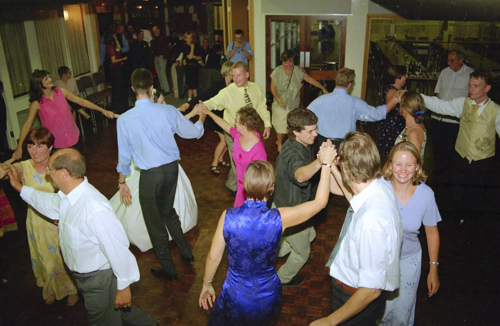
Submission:
<svg viewBox="0 0 500 326">
<path fill-rule="evenodd" d="M 71 57 L 71 69 L 74 76 L 90 71 L 85 29 L 83 25 L 82 5 L 88 4 L 63 6 L 69 55 Z"/>
</svg>

